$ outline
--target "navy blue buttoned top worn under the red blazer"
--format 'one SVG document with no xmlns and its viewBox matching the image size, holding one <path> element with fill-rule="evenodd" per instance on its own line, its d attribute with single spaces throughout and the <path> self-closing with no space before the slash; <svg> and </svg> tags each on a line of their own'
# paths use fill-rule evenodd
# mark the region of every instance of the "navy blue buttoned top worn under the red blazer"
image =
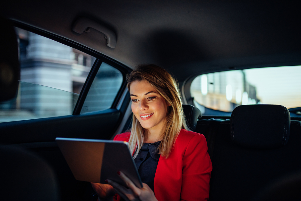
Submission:
<svg viewBox="0 0 301 201">
<path fill-rule="evenodd" d="M 154 178 L 160 154 L 157 151 L 161 141 L 144 143 L 138 156 L 134 159 L 141 181 L 154 191 Z"/>
</svg>

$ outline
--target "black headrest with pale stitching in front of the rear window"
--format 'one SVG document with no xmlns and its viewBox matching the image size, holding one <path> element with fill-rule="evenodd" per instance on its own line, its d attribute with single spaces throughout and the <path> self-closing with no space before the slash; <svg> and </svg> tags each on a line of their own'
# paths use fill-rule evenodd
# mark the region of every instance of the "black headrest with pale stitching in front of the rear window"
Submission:
<svg viewBox="0 0 301 201">
<path fill-rule="evenodd" d="M 290 135 L 290 112 L 282 105 L 240 105 L 232 111 L 231 139 L 240 146 L 275 149 Z"/>
</svg>

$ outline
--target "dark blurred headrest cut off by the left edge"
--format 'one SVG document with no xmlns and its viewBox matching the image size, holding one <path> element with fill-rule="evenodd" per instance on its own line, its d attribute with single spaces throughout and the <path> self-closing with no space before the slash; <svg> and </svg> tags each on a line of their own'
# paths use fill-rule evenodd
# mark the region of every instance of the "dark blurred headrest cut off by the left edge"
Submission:
<svg viewBox="0 0 301 201">
<path fill-rule="evenodd" d="M 0 101 L 16 96 L 20 80 L 17 36 L 10 21 L 0 17 Z"/>
</svg>

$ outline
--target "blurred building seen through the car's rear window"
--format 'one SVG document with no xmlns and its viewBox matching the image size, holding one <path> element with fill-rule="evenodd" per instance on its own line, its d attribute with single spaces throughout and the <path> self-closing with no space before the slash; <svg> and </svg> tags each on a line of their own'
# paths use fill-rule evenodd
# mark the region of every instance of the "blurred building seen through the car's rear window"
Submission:
<svg viewBox="0 0 301 201">
<path fill-rule="evenodd" d="M 238 105 L 257 104 L 256 87 L 248 83 L 244 71 L 224 71 L 197 76 L 191 94 L 200 105 L 231 112 Z"/>
</svg>

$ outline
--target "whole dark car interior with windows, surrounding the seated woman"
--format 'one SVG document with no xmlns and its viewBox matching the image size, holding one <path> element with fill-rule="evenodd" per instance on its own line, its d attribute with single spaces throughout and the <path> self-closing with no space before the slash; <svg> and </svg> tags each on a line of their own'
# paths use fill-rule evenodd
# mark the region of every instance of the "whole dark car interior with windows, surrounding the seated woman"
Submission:
<svg viewBox="0 0 301 201">
<path fill-rule="evenodd" d="M 1 200 L 97 200 L 55 138 L 129 130 L 126 75 L 139 64 L 178 81 L 186 123 L 207 140 L 209 200 L 301 199 L 295 3 L 13 0 L 0 10 Z"/>
</svg>

